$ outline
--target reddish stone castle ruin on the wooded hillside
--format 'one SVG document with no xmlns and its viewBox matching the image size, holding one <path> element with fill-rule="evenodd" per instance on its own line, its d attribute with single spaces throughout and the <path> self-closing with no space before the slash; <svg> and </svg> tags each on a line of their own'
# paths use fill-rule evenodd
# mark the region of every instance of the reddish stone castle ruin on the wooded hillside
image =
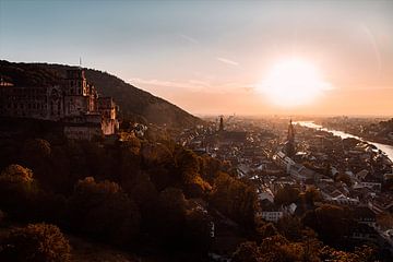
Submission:
<svg viewBox="0 0 393 262">
<path fill-rule="evenodd" d="M 64 123 L 69 139 L 92 140 L 115 134 L 119 122 L 111 97 L 99 97 L 83 69 L 67 70 L 59 85 L 14 86 L 0 81 L 0 117 Z"/>
</svg>

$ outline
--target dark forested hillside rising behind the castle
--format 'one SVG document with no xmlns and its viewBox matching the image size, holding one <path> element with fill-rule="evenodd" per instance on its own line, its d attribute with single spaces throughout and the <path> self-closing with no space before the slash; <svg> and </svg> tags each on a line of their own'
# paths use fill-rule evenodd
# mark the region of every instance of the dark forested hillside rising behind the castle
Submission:
<svg viewBox="0 0 393 262">
<path fill-rule="evenodd" d="M 60 82 L 70 66 L 48 63 L 15 63 L 1 60 L 0 75 L 15 85 L 37 86 Z M 86 78 L 104 96 L 111 96 L 120 106 L 122 116 L 136 118 L 156 124 L 183 128 L 201 123 L 202 120 L 177 107 L 142 91 L 107 72 L 85 69 Z"/>
</svg>

